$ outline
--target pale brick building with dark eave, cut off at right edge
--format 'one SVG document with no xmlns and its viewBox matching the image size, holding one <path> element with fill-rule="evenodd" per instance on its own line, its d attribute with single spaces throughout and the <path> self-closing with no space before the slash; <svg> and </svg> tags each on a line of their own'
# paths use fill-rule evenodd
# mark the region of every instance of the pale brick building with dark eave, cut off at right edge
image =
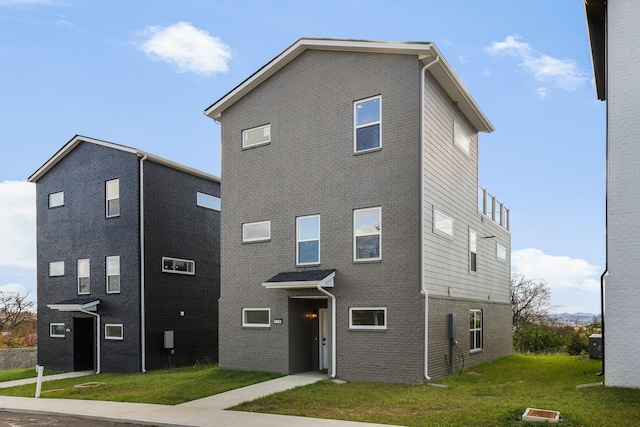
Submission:
<svg viewBox="0 0 640 427">
<path fill-rule="evenodd" d="M 607 102 L 605 385 L 640 388 L 640 3 L 585 0 L 596 95 Z M 605 327 L 606 326 L 606 327 Z"/>
</svg>

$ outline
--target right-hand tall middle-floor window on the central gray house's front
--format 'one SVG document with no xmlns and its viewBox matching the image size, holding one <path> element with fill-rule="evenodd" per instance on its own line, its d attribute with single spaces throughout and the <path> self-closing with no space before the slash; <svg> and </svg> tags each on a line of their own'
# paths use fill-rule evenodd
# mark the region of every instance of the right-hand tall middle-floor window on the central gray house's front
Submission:
<svg viewBox="0 0 640 427">
<path fill-rule="evenodd" d="M 381 225 L 382 208 L 356 209 L 353 211 L 354 261 L 371 261 L 382 258 L 380 250 Z"/>
</svg>

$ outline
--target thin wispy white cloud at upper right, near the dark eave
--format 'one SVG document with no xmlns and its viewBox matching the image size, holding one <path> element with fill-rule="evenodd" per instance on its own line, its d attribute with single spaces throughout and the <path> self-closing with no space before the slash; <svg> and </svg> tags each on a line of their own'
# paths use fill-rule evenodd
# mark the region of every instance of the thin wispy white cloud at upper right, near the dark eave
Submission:
<svg viewBox="0 0 640 427">
<path fill-rule="evenodd" d="M 589 80 L 588 73 L 578 68 L 572 59 L 559 59 L 546 55 L 522 42 L 516 35 L 503 41 L 492 42 L 486 50 L 492 55 L 507 55 L 521 60 L 520 66 L 540 83 L 552 84 L 566 91 L 575 91 Z M 547 87 L 537 89 L 541 97 L 548 94 Z"/>
</svg>

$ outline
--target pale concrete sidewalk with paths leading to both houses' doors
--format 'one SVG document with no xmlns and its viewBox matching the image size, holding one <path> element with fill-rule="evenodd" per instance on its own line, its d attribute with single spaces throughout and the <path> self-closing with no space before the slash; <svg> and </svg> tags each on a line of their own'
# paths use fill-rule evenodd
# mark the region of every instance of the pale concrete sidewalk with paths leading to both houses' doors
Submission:
<svg viewBox="0 0 640 427">
<path fill-rule="evenodd" d="M 79 377 L 92 372 L 70 372 L 47 375 L 45 381 Z M 326 380 L 326 374 L 307 372 L 288 375 L 225 393 L 186 402 L 176 406 L 148 403 L 106 402 L 97 400 L 71 400 L 0 396 L 0 411 L 67 415 L 87 419 L 113 420 L 151 426 L 201 427 L 364 427 L 376 424 L 253 412 L 225 411 L 224 408 L 255 400 L 269 394 Z M 35 383 L 36 379 L 7 381 L 0 387 Z M 381 424 L 377 424 L 382 426 Z M 386 425 L 388 427 L 388 425 Z"/>
</svg>

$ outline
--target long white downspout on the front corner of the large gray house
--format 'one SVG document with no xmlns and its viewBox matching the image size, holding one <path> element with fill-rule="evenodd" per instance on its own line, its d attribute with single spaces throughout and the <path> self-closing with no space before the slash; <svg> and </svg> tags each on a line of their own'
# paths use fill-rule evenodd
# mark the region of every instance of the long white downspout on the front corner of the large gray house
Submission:
<svg viewBox="0 0 640 427">
<path fill-rule="evenodd" d="M 440 56 L 436 53 L 436 57 L 433 61 L 422 67 L 420 70 L 420 293 L 424 295 L 424 379 L 431 381 L 429 376 L 429 291 L 427 290 L 426 274 L 424 271 L 424 237 L 425 237 L 425 225 L 424 225 L 424 184 L 425 184 L 425 120 L 424 111 L 426 108 L 426 98 L 424 95 L 427 78 L 427 69 L 437 63 L 440 60 Z"/>
</svg>

